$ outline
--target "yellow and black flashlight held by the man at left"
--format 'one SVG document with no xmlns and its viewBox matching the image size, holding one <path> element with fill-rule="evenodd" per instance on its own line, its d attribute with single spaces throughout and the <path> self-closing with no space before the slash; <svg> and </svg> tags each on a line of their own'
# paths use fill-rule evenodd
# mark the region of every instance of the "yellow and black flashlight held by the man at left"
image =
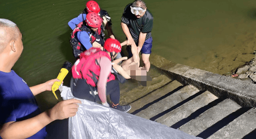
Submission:
<svg viewBox="0 0 256 139">
<path fill-rule="evenodd" d="M 58 90 L 59 86 L 61 85 L 62 81 L 66 77 L 67 73 L 70 71 L 71 67 L 72 67 L 72 63 L 68 61 L 64 62 L 62 69 L 59 75 L 57 76 L 57 79 L 59 79 L 60 81 L 55 81 L 52 85 L 52 93 L 54 94 L 57 100 L 58 98 L 57 98 L 57 95 L 55 94 L 55 91 Z"/>
</svg>

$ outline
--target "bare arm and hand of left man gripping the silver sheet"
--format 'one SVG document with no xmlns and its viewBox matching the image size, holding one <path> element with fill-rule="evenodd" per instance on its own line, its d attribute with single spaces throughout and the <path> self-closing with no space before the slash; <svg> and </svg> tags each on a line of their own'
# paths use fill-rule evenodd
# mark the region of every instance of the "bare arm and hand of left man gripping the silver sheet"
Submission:
<svg viewBox="0 0 256 139">
<path fill-rule="evenodd" d="M 52 109 L 24 121 L 10 121 L 0 129 L 3 139 L 25 139 L 36 134 L 43 127 L 54 120 L 73 117 L 78 111 L 77 99 L 64 100 L 57 103 Z"/>
</svg>

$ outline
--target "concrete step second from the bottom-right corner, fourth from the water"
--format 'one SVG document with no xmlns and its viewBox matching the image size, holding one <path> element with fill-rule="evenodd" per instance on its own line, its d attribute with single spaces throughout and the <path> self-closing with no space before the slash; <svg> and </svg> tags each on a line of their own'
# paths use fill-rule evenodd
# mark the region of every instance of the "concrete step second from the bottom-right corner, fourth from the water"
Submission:
<svg viewBox="0 0 256 139">
<path fill-rule="evenodd" d="M 223 118 L 232 114 L 232 112 L 236 112 L 240 108 L 241 106 L 239 106 L 231 99 L 225 99 L 222 102 L 218 103 L 216 106 L 209 108 L 198 117 L 193 117 L 194 119 L 180 126 L 179 130 L 184 131 L 185 133 L 188 133 L 190 135 L 197 136 L 200 133 L 203 133 L 209 127 L 221 121 Z M 190 117 L 191 116 L 192 114 L 190 115 Z M 216 130 L 218 129 L 216 128 Z M 207 134 L 209 135 L 209 132 Z"/>
</svg>

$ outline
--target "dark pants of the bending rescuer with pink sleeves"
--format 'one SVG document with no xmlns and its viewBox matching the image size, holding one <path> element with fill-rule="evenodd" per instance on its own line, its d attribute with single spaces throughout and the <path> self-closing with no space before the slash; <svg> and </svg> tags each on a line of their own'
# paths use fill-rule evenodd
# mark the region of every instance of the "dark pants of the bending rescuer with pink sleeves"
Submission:
<svg viewBox="0 0 256 139">
<path fill-rule="evenodd" d="M 73 81 L 72 81 L 73 80 Z M 90 86 L 83 79 L 71 79 L 71 92 L 74 97 L 79 99 L 86 99 L 94 102 L 99 102 L 99 95 L 94 98 L 90 94 Z M 120 100 L 119 82 L 116 80 L 109 81 L 106 86 L 106 95 L 109 95 L 110 100 L 117 104 Z"/>
</svg>

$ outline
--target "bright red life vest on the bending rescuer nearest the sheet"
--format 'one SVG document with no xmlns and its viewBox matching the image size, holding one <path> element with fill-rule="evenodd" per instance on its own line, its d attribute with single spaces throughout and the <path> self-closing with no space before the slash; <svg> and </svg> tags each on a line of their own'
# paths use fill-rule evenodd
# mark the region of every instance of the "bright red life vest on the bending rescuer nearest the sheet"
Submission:
<svg viewBox="0 0 256 139">
<path fill-rule="evenodd" d="M 96 86 L 100 76 L 100 65 L 97 58 L 107 57 L 111 61 L 109 54 L 100 48 L 91 47 L 81 53 L 80 58 L 72 67 L 74 79 L 85 79 L 88 85 Z M 108 82 L 115 80 L 114 74 L 109 73 Z"/>
</svg>

